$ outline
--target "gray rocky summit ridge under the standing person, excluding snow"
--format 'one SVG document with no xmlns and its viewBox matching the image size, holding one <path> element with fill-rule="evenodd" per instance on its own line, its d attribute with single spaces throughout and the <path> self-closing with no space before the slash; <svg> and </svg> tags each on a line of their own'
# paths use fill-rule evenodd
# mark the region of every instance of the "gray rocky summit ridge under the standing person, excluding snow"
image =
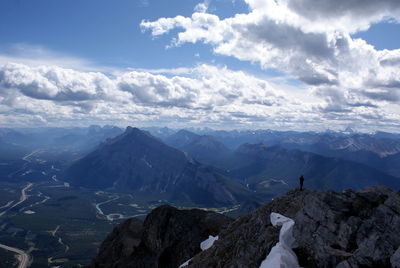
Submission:
<svg viewBox="0 0 400 268">
<path fill-rule="evenodd" d="M 399 255 L 399 202 L 399 192 L 386 187 L 291 191 L 238 218 L 188 267 L 259 267 L 278 239 L 271 212 L 294 219 L 294 251 L 303 267 L 391 267 Z"/>
</svg>

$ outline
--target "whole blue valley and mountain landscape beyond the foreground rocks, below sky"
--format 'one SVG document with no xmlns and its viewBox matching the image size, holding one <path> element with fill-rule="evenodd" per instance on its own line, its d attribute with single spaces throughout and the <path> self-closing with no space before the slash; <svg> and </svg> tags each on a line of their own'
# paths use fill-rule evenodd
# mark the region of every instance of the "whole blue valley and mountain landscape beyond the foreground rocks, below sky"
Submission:
<svg viewBox="0 0 400 268">
<path fill-rule="evenodd" d="M 0 135 L 1 268 L 88 265 L 126 219 L 164 204 L 237 217 L 296 188 L 299 174 L 306 189 L 400 187 L 397 137 L 110 126 L 27 133 Z"/>
</svg>

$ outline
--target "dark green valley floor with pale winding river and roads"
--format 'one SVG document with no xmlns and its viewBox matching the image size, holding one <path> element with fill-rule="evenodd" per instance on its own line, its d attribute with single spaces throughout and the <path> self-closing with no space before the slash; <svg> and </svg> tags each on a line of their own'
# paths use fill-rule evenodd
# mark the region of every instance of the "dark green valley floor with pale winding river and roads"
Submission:
<svg viewBox="0 0 400 268">
<path fill-rule="evenodd" d="M 14 168 L 18 171 L 14 173 L 20 174 L 17 179 L 0 179 L 2 268 L 86 265 L 96 255 L 101 241 L 123 220 L 144 219 L 152 209 L 166 203 L 191 207 L 157 196 L 72 187 L 58 179 L 62 166 L 49 165 L 32 155 Z M 30 176 L 25 181 L 28 171 L 40 177 Z M 237 208 L 207 209 L 230 213 Z"/>
</svg>

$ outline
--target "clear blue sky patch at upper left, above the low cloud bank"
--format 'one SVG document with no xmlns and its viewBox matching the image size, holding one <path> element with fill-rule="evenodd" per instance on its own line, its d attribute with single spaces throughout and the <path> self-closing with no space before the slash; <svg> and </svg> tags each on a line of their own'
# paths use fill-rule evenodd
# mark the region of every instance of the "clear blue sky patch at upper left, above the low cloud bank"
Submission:
<svg viewBox="0 0 400 268">
<path fill-rule="evenodd" d="M 0 3 L 2 51 L 12 52 L 15 44 L 41 46 L 99 65 L 132 68 L 175 68 L 192 66 L 216 56 L 202 45 L 166 49 L 167 37 L 152 39 L 140 29 L 142 20 L 177 15 L 189 16 L 199 1 L 132 0 L 5 0 Z M 221 17 L 247 10 L 243 2 L 213 4 Z M 10 51 L 11 50 L 11 51 Z M 195 57 L 198 53 L 201 57 Z M 221 57 L 221 63 L 238 65 Z"/>
</svg>

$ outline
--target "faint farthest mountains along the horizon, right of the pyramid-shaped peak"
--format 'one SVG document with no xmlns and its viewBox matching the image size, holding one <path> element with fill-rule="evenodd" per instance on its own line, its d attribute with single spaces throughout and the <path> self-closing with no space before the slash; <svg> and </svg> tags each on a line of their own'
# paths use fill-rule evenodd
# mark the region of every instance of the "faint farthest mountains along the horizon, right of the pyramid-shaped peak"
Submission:
<svg viewBox="0 0 400 268">
<path fill-rule="evenodd" d="M 229 150 L 234 150 L 242 144 L 262 143 L 267 146 L 279 145 L 286 149 L 297 149 L 304 152 L 312 152 L 326 157 L 335 157 L 349 160 L 378 169 L 391 176 L 400 177 L 400 134 L 377 132 L 375 134 L 360 134 L 347 131 L 341 132 L 295 132 L 295 131 L 272 131 L 272 130 L 244 130 L 244 131 L 213 131 L 207 129 L 202 136 L 208 137 L 222 147 L 224 153 L 215 157 L 215 153 L 202 148 L 201 154 L 187 143 L 174 142 L 176 137 L 183 136 L 186 140 L 194 142 L 200 135 L 189 131 L 179 131 L 164 141 L 171 146 L 187 151 L 194 158 L 212 159 L 209 164 L 221 166 L 221 157 L 226 157 Z M 231 151 L 232 152 L 232 151 Z M 224 165 L 222 165 L 224 166 Z"/>
</svg>

